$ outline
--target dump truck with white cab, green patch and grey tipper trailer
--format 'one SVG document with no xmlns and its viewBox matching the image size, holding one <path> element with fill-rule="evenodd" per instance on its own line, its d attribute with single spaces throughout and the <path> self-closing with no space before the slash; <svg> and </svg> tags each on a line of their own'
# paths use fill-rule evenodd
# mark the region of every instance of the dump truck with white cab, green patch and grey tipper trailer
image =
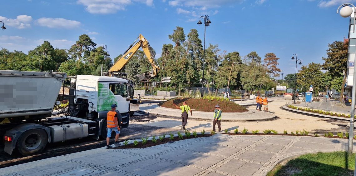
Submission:
<svg viewBox="0 0 356 176">
<path fill-rule="evenodd" d="M 66 78 L 71 78 L 67 115 L 53 116 Z M 123 78 L 0 70 L 0 82 L 0 135 L 4 151 L 10 155 L 14 150 L 35 155 L 48 143 L 85 137 L 105 139 L 111 105 L 117 105 L 121 128 L 129 126 L 129 112 L 134 110 L 130 109 L 133 86 Z"/>
</svg>

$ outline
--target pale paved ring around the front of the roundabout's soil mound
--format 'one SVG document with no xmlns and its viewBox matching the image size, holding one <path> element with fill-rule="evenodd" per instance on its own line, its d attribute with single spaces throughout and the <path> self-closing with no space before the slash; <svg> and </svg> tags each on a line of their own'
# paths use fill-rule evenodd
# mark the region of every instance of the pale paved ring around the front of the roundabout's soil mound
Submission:
<svg viewBox="0 0 356 176">
<path fill-rule="evenodd" d="M 157 105 L 158 103 L 147 103 L 140 104 L 140 112 L 156 114 L 156 115 L 164 115 L 170 117 L 181 117 L 182 110 L 172 109 L 172 108 L 164 108 Z M 190 119 L 204 119 L 211 120 L 214 117 L 214 112 L 201 112 L 201 111 L 193 111 L 193 116 L 188 115 Z M 223 118 L 222 121 L 249 121 L 249 120 L 269 120 L 276 117 L 275 114 L 252 110 L 248 112 L 242 113 L 224 113 L 223 110 Z"/>
</svg>

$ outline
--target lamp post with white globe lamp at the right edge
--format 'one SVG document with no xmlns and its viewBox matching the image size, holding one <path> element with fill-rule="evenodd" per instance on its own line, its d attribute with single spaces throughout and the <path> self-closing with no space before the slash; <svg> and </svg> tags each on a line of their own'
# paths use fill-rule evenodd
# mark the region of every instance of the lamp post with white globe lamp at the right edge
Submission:
<svg viewBox="0 0 356 176">
<path fill-rule="evenodd" d="M 351 20 L 352 20 L 352 8 L 349 6 L 351 5 L 353 8 L 354 8 L 354 23 L 353 24 L 350 24 L 350 25 L 353 25 L 354 26 L 354 30 L 353 30 L 353 33 L 355 33 L 355 17 L 356 17 L 356 7 L 353 5 L 353 4 L 350 4 L 350 3 L 345 3 L 345 4 L 342 4 L 340 5 L 338 8 L 337 8 L 337 11 L 336 13 L 339 13 L 339 9 L 341 6 L 344 6 L 340 9 L 340 15 L 342 17 L 351 17 Z M 351 20 L 350 20 L 350 23 L 351 23 Z M 349 33 L 351 32 L 350 31 L 350 27 L 349 27 Z M 351 35 L 351 33 L 349 34 L 349 36 Z M 350 58 L 349 58 L 350 59 Z M 351 97 L 352 97 L 352 100 L 351 100 L 351 112 L 350 112 L 350 129 L 349 129 L 349 139 L 347 140 L 347 152 L 349 152 L 349 154 L 352 154 L 352 143 L 353 143 L 353 136 L 354 136 L 354 117 L 355 117 L 355 97 L 356 97 L 356 68 L 354 68 L 354 76 L 353 76 L 353 82 L 352 82 L 352 93 L 351 93 Z M 356 166 L 355 166 L 356 167 Z M 355 170 L 355 176 L 356 176 L 356 170 Z"/>
</svg>

